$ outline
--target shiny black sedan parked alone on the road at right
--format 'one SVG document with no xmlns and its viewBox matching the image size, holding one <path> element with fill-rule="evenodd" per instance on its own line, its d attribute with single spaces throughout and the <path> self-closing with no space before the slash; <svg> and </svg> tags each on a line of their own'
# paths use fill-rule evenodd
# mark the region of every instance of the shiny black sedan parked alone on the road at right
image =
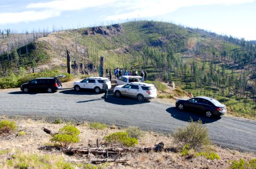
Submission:
<svg viewBox="0 0 256 169">
<path fill-rule="evenodd" d="M 219 103 L 218 100 L 211 97 L 194 97 L 192 99 L 178 99 L 176 100 L 176 108 L 183 110 L 188 108 L 197 112 L 203 113 L 206 117 L 212 115 L 223 115 L 227 112 L 226 106 Z"/>
</svg>

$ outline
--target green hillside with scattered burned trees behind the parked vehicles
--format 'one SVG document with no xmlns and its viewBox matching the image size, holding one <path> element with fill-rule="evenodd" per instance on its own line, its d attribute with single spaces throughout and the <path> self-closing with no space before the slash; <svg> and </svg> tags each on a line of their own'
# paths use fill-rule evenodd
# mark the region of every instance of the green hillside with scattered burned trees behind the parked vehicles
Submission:
<svg viewBox="0 0 256 169">
<path fill-rule="evenodd" d="M 20 67 L 32 72 L 66 70 L 67 50 L 79 73 L 92 63 L 98 69 L 146 70 L 150 81 L 174 81 L 194 96 L 215 97 L 229 112 L 255 116 L 256 47 L 253 41 L 184 28 L 171 23 L 132 21 L 109 26 L 63 30 L 42 34 L 18 44 L 1 37 L 2 77 L 18 74 Z M 25 41 L 25 40 L 24 40 Z M 13 42 L 13 43 L 12 43 Z"/>
</svg>

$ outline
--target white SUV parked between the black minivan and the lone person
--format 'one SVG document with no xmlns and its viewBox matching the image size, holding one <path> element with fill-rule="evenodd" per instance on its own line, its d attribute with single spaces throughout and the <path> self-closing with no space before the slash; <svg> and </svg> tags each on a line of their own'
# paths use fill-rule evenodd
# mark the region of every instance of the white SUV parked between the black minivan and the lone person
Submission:
<svg viewBox="0 0 256 169">
<path fill-rule="evenodd" d="M 81 88 L 92 89 L 97 94 L 102 91 L 102 84 L 106 83 L 108 88 L 111 88 L 111 82 L 109 78 L 105 77 L 88 77 L 82 81 L 76 81 L 73 83 L 75 91 L 80 91 Z"/>
</svg>

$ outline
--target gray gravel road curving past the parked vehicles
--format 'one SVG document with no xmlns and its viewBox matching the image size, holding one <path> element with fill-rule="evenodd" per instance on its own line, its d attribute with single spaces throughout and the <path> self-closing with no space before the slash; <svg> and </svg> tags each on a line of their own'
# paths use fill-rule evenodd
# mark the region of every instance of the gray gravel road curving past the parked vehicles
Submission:
<svg viewBox="0 0 256 169">
<path fill-rule="evenodd" d="M 184 127 L 190 117 L 199 118 L 209 128 L 214 144 L 245 152 L 256 153 L 256 122 L 240 118 L 205 118 L 202 115 L 181 112 L 174 105 L 154 100 L 138 102 L 135 99 L 116 98 L 90 91 L 76 92 L 71 88 L 53 94 L 24 94 L 19 88 L 0 91 L 0 115 L 35 118 L 64 118 L 77 122 L 97 121 L 119 126 L 138 126 L 143 130 L 171 134 Z M 164 141 L 164 140 L 163 140 Z"/>
</svg>

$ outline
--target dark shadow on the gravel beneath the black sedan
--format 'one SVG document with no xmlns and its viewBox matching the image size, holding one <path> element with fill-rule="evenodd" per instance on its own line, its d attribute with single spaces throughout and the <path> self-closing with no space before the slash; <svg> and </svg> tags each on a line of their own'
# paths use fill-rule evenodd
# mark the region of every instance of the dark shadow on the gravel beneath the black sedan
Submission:
<svg viewBox="0 0 256 169">
<path fill-rule="evenodd" d="M 204 117 L 203 114 L 199 114 L 197 112 L 190 113 L 188 111 L 178 110 L 175 107 L 168 108 L 166 109 L 166 111 L 170 113 L 173 118 L 176 118 L 176 119 L 179 119 L 180 121 L 185 121 L 185 122 L 188 122 L 191 119 L 193 119 L 193 121 L 196 122 L 199 119 L 201 119 L 202 123 L 205 124 L 205 123 L 216 122 L 222 118 L 222 117 L 207 118 L 207 117 Z"/>
</svg>

